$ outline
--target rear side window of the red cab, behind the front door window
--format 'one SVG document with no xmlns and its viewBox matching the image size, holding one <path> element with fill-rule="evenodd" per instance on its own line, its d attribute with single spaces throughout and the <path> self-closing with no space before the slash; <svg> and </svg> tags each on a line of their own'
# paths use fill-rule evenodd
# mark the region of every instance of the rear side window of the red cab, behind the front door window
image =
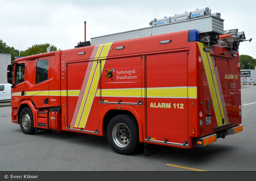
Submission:
<svg viewBox="0 0 256 181">
<path fill-rule="evenodd" d="M 48 79 L 48 66 L 48 59 L 37 61 L 36 84 Z"/>
</svg>

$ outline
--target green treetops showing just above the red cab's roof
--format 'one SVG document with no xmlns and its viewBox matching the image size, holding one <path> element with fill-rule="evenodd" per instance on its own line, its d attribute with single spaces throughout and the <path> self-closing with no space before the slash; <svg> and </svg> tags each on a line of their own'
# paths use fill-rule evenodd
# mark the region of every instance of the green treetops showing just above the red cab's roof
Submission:
<svg viewBox="0 0 256 181">
<path fill-rule="evenodd" d="M 32 45 L 32 47 L 28 47 L 25 51 L 21 51 L 21 56 L 29 56 L 29 55 L 36 55 L 40 53 L 46 53 L 47 48 L 50 46 L 50 43 L 40 44 L 40 45 Z M 59 49 L 60 50 L 60 49 Z M 50 51 L 57 51 L 57 48 L 54 45 L 50 46 Z"/>
</svg>

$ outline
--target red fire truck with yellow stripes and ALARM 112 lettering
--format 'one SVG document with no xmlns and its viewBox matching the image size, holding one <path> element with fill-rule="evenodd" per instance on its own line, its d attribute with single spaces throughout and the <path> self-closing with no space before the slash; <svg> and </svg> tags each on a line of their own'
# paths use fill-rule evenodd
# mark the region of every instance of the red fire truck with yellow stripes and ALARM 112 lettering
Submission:
<svg viewBox="0 0 256 181">
<path fill-rule="evenodd" d="M 243 40 L 206 8 L 18 58 L 7 68 L 12 122 L 25 134 L 106 134 L 124 155 L 141 144 L 206 146 L 243 130 Z"/>
</svg>

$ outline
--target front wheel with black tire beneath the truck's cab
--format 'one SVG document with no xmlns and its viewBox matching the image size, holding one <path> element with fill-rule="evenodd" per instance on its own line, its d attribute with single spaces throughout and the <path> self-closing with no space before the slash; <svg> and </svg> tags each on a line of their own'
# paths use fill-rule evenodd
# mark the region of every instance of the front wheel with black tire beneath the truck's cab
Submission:
<svg viewBox="0 0 256 181">
<path fill-rule="evenodd" d="M 25 134 L 35 134 L 34 118 L 30 108 L 26 107 L 20 112 L 20 128 Z"/>
</svg>

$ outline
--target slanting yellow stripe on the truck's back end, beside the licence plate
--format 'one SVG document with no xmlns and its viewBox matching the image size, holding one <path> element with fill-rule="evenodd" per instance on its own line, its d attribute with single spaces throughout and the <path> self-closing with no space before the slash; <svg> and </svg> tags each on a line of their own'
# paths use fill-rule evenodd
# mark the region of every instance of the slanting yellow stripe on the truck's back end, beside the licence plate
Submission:
<svg viewBox="0 0 256 181">
<path fill-rule="evenodd" d="M 206 48 L 208 48 L 208 46 L 205 45 L 204 43 L 197 42 L 197 44 L 199 46 L 202 60 L 204 63 L 204 69 L 205 69 L 205 73 L 206 73 L 207 82 L 209 85 L 210 95 L 213 100 L 213 108 L 214 108 L 214 112 L 216 115 L 217 124 L 218 124 L 218 126 L 222 126 L 223 125 L 222 118 L 224 118 L 225 116 L 224 116 L 224 111 L 223 111 L 223 107 L 222 107 L 223 104 L 222 104 L 221 98 L 220 98 L 220 92 L 219 92 L 219 87 L 218 87 L 218 83 L 217 83 L 217 78 L 215 75 L 215 71 L 213 71 L 213 62 L 210 57 L 210 52 L 204 51 L 204 46 Z M 226 124 L 226 121 L 225 121 L 224 125 L 225 124 Z"/>
</svg>

